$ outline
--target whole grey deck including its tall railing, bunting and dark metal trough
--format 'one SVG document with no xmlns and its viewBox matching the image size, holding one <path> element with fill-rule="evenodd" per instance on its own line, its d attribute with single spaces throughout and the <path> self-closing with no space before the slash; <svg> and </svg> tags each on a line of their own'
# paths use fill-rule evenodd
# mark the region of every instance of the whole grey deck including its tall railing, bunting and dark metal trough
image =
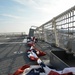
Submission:
<svg viewBox="0 0 75 75">
<path fill-rule="evenodd" d="M 0 75 L 74 75 L 75 6 L 29 34 L 0 34 Z"/>
</svg>

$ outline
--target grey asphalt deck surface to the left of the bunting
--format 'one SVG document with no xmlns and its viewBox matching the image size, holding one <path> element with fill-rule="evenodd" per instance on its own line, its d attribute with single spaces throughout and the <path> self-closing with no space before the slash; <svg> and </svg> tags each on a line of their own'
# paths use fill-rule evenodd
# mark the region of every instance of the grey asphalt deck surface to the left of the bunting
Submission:
<svg viewBox="0 0 75 75">
<path fill-rule="evenodd" d="M 13 74 L 25 64 L 36 64 L 27 57 L 27 46 L 23 40 L 23 37 L 13 37 L 0 41 L 0 75 Z"/>
</svg>

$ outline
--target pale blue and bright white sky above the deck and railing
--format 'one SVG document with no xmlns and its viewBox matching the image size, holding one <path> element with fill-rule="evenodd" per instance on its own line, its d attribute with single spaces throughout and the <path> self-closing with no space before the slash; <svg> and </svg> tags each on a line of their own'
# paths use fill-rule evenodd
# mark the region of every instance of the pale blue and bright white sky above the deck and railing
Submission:
<svg viewBox="0 0 75 75">
<path fill-rule="evenodd" d="M 0 33 L 26 32 L 75 5 L 75 0 L 0 0 Z"/>
</svg>

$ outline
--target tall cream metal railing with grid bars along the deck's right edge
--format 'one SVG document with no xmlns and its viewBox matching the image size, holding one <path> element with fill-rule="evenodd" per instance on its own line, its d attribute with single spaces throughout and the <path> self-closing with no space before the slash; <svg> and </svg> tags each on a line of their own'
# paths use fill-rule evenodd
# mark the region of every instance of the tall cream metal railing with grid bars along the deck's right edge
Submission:
<svg viewBox="0 0 75 75">
<path fill-rule="evenodd" d="M 48 43 L 55 43 L 58 47 L 74 51 L 75 6 L 37 27 L 34 35 Z"/>
</svg>

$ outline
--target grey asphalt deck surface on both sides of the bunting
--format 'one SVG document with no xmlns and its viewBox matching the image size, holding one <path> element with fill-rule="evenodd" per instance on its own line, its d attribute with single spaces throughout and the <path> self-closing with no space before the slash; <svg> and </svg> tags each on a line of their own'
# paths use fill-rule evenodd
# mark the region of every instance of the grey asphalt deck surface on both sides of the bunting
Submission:
<svg viewBox="0 0 75 75">
<path fill-rule="evenodd" d="M 35 65 L 37 62 L 31 61 L 26 54 L 26 43 L 23 42 L 24 36 L 0 38 L 0 75 L 13 74 L 18 68 L 25 64 Z M 36 48 L 46 52 L 45 56 L 39 57 L 46 65 L 50 64 L 50 51 L 60 50 L 60 48 L 51 47 L 50 44 L 39 41 Z M 73 60 L 75 63 L 75 60 Z M 72 64 L 70 61 L 68 62 Z M 74 65 L 75 66 L 75 65 Z"/>
</svg>

